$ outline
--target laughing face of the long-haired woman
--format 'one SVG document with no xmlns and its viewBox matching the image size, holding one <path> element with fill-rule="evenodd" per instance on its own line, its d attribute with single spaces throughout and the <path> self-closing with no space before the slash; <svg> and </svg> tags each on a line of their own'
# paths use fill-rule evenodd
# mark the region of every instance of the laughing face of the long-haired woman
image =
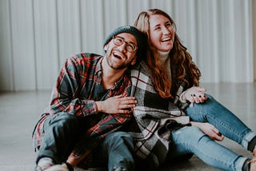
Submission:
<svg viewBox="0 0 256 171">
<path fill-rule="evenodd" d="M 174 45 L 174 30 L 168 18 L 150 15 L 150 42 L 158 50 L 168 52 Z"/>
</svg>

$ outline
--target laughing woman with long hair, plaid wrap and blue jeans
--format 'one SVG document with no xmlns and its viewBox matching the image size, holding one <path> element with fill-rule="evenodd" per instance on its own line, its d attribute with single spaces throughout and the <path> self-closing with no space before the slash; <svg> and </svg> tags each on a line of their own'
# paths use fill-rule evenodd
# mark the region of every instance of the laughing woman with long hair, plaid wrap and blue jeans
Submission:
<svg viewBox="0 0 256 171">
<path fill-rule="evenodd" d="M 139 14 L 134 26 L 147 35 L 149 45 L 146 60 L 131 72 L 138 100 L 138 126 L 133 130 L 137 155 L 160 165 L 194 153 L 218 169 L 256 170 L 256 134 L 199 87 L 201 73 L 178 38 L 173 19 L 151 9 Z M 254 158 L 214 141 L 224 136 L 253 152 Z"/>
</svg>

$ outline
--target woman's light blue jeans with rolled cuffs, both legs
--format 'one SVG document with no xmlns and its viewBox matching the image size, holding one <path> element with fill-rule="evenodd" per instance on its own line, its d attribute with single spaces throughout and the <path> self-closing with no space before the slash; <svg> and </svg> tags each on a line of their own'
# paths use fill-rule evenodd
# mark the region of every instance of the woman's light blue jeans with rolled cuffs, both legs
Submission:
<svg viewBox="0 0 256 171">
<path fill-rule="evenodd" d="M 202 104 L 190 105 L 186 114 L 193 121 L 209 122 L 225 137 L 238 142 L 247 149 L 249 142 L 256 136 L 238 117 L 207 94 L 208 100 Z M 194 153 L 206 164 L 223 170 L 242 170 L 248 159 L 230 149 L 219 145 L 194 126 L 186 126 L 172 133 L 173 145 L 169 158 L 174 159 L 187 153 Z"/>
</svg>

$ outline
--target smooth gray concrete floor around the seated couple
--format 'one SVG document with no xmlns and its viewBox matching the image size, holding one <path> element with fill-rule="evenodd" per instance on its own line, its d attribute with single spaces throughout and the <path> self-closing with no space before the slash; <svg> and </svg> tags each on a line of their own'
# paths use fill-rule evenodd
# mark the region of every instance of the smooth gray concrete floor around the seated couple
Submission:
<svg viewBox="0 0 256 171">
<path fill-rule="evenodd" d="M 226 105 L 251 129 L 256 131 L 256 84 L 204 84 L 208 93 Z M 35 153 L 31 133 L 40 113 L 50 100 L 50 91 L 0 93 L 0 170 L 30 171 L 34 169 Z M 251 157 L 234 141 L 225 138 L 222 145 L 236 153 Z M 171 165 L 171 166 L 170 166 Z M 217 170 L 198 157 L 170 164 L 159 170 Z"/>
</svg>

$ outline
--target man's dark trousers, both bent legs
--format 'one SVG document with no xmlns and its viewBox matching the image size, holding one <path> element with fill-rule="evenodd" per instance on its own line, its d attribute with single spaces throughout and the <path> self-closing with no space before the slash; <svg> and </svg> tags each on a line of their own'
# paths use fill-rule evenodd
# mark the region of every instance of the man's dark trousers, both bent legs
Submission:
<svg viewBox="0 0 256 171">
<path fill-rule="evenodd" d="M 78 137 L 86 129 L 85 122 L 72 114 L 58 113 L 47 118 L 44 130 L 45 137 L 38 151 L 36 162 L 42 157 L 50 157 L 56 164 L 66 161 L 74 145 L 80 140 Z M 123 167 L 134 170 L 134 141 L 130 133 L 110 133 L 97 148 L 92 150 L 95 159 L 108 166 Z"/>
</svg>

